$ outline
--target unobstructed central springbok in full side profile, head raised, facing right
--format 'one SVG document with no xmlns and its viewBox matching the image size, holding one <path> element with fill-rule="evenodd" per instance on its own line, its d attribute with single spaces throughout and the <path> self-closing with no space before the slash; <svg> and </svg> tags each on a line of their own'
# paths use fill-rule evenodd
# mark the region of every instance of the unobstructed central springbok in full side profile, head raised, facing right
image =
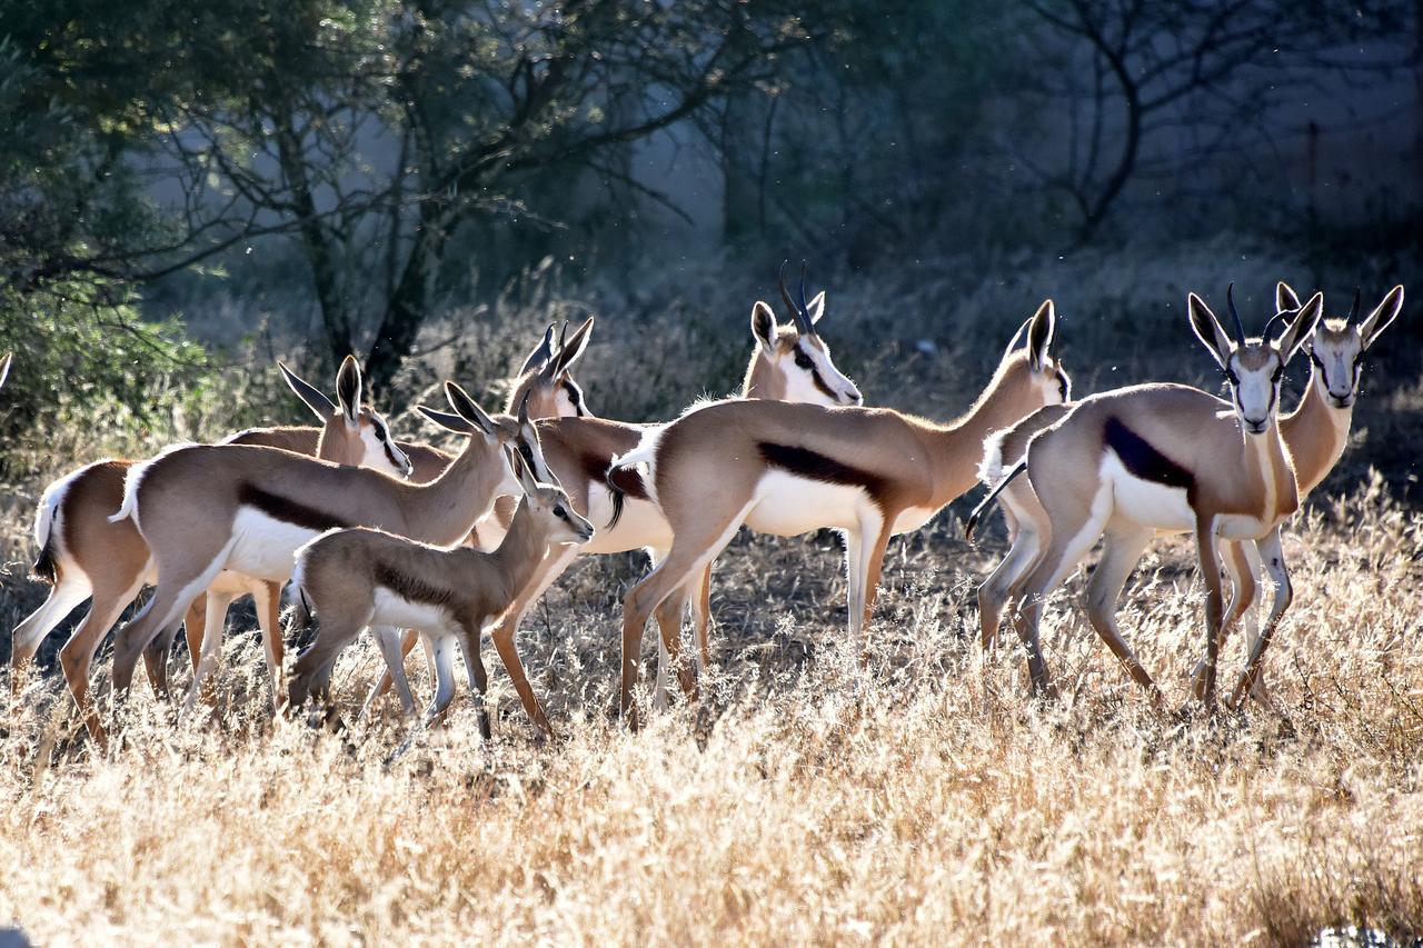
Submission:
<svg viewBox="0 0 1423 948">
<path fill-rule="evenodd" d="M 632 712 L 642 632 L 673 591 L 712 562 L 746 524 L 783 537 L 818 528 L 845 535 L 854 649 L 874 606 L 885 545 L 918 530 L 975 484 L 983 438 L 1043 404 L 1064 401 L 1067 374 L 1049 354 L 1052 300 L 1023 323 L 985 391 L 949 424 L 888 409 L 778 401 L 696 406 L 650 430 L 613 477 L 647 465 L 643 483 L 672 527 L 672 549 L 623 606 L 622 710 Z M 1026 332 L 1027 344 L 1016 350 Z M 676 659 L 677 641 L 663 643 Z M 687 695 L 690 675 L 679 668 Z M 636 725 L 636 716 L 629 719 Z"/>
</svg>

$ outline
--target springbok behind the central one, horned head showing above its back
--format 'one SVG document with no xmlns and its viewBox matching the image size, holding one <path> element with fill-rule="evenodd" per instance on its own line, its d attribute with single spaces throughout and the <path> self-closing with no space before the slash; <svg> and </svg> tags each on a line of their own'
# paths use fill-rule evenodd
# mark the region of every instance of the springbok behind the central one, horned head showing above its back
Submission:
<svg viewBox="0 0 1423 948">
<path fill-rule="evenodd" d="M 858 404 L 859 390 L 831 360 L 830 347 L 821 339 L 815 326 L 825 313 L 825 292 L 805 302 L 804 278 L 801 280 L 800 305 L 778 280 L 781 299 L 793 316 L 790 325 L 778 325 L 776 313 L 766 302 L 751 307 L 751 335 L 754 349 L 741 383 L 743 399 L 804 400 L 815 404 Z M 536 424 L 539 441 L 544 446 L 546 467 L 535 464 L 535 477 L 544 481 L 564 484 L 575 510 L 588 515 L 601 527 L 598 535 L 582 547 L 555 548 L 535 572 L 534 579 L 519 594 L 508 613 L 492 632 L 495 649 L 505 668 L 519 666 L 515 636 L 524 615 L 541 595 L 568 569 L 579 554 L 612 554 L 630 549 L 647 549 L 653 565 L 672 547 L 672 528 L 662 511 L 642 490 L 635 473 L 615 475 L 612 484 L 606 480 L 613 458 L 633 450 L 649 427 L 609 421 L 605 418 L 546 418 Z M 710 589 L 712 564 L 697 576 L 693 598 L 693 619 L 702 653 L 706 652 L 707 596 Z M 680 635 L 682 613 L 690 589 L 680 591 L 675 602 L 659 609 L 657 621 L 667 635 Z M 407 638 L 404 649 L 414 645 Z M 660 653 L 657 663 L 659 696 L 665 688 L 665 676 L 670 659 Z M 522 669 L 511 673 L 519 702 L 529 720 L 545 733 L 552 733 L 534 690 L 528 688 Z M 390 673 L 371 689 L 367 705 L 390 686 Z"/>
</svg>

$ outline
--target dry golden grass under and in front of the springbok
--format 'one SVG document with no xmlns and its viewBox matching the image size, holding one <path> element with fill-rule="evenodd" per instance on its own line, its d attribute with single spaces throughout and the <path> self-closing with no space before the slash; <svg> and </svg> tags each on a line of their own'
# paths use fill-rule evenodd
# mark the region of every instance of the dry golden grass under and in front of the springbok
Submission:
<svg viewBox="0 0 1423 948">
<path fill-rule="evenodd" d="M 639 734 L 608 715 L 632 558 L 583 561 L 525 626 L 546 744 L 501 670 L 488 746 L 467 700 L 403 753 L 388 703 L 334 734 L 272 727 L 243 635 L 216 722 L 172 729 L 145 692 L 101 759 L 51 675 L 0 740 L 0 920 L 139 944 L 1416 938 L 1420 548 L 1423 517 L 1377 480 L 1315 505 L 1286 539 L 1281 713 L 1214 725 L 1154 715 L 1066 599 L 1046 639 L 1063 699 L 1030 702 L 1015 649 L 970 645 L 999 544 L 943 521 L 896 541 L 858 688 L 834 541 L 737 544 L 707 699 Z M 1123 609 L 1181 702 L 1198 602 L 1190 551 L 1161 544 Z M 347 709 L 374 668 L 364 643 L 344 659 Z"/>
</svg>

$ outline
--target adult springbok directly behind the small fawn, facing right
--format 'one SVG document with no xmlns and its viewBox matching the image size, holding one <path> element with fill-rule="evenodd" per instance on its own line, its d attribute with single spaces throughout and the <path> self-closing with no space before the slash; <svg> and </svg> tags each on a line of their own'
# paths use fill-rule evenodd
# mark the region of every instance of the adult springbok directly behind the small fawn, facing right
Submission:
<svg viewBox="0 0 1423 948">
<path fill-rule="evenodd" d="M 115 695 L 128 690 L 139 652 L 223 569 L 286 582 L 296 549 L 336 527 L 380 527 L 441 545 L 462 541 L 498 494 L 518 490 L 499 447 L 514 441 L 536 454 L 538 434 L 527 416 L 491 418 L 451 381 L 445 396 L 455 414 L 441 416 L 453 418 L 444 424 L 468 441 L 428 484 L 236 444 L 179 447 L 131 468 L 114 517 L 132 517 L 158 578 L 144 611 L 115 639 Z"/>
</svg>

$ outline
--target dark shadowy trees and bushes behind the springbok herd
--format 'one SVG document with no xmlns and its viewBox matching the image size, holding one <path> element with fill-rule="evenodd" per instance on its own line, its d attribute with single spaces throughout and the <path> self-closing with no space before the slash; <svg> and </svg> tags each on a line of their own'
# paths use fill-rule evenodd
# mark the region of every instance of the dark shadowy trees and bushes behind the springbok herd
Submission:
<svg viewBox="0 0 1423 948">
<path fill-rule="evenodd" d="M 1044 296 L 1079 393 L 1204 381 L 1188 289 L 1409 283 L 1420 97 L 1416 0 L 3 0 L 0 424 L 290 418 L 275 354 L 494 399 L 583 313 L 666 417 L 785 258 L 874 401 L 955 414 Z M 1412 310 L 1350 464 L 1416 498 Z"/>
</svg>

